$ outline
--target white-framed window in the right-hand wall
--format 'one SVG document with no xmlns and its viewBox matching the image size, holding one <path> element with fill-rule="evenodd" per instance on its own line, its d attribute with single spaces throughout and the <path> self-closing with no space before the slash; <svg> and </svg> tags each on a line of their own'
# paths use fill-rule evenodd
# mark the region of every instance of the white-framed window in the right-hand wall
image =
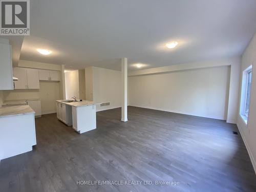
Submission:
<svg viewBox="0 0 256 192">
<path fill-rule="evenodd" d="M 249 115 L 250 105 L 251 69 L 252 67 L 250 66 L 246 70 L 244 70 L 242 79 L 240 116 L 242 117 L 246 124 Z"/>
</svg>

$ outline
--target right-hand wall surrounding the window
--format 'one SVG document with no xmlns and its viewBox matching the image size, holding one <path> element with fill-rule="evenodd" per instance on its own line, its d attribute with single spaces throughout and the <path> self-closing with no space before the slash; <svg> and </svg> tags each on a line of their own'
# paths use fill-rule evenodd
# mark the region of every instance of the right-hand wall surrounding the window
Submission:
<svg viewBox="0 0 256 192">
<path fill-rule="evenodd" d="M 250 155 L 254 170 L 256 172 L 256 33 L 254 34 L 253 38 L 251 39 L 249 45 L 247 46 L 242 55 L 240 79 L 242 79 L 242 72 L 250 65 L 252 65 L 252 82 L 249 105 L 249 117 L 246 125 L 243 119 L 238 114 L 237 125 L 247 147 L 247 151 Z M 240 89 L 241 85 L 242 80 L 240 81 Z"/>
</svg>

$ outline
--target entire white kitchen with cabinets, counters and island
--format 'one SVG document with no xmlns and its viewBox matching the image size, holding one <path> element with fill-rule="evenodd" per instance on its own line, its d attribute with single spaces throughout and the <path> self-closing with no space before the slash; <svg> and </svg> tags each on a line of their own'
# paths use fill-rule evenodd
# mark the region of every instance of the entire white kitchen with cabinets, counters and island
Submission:
<svg viewBox="0 0 256 192">
<path fill-rule="evenodd" d="M 96 103 L 83 96 L 84 76 L 79 79 L 83 88 L 69 92 L 74 94 L 72 99 L 67 93 L 73 86 L 65 86 L 63 66 L 27 60 L 13 65 L 12 47 L 1 38 L 0 57 L 0 161 L 33 150 L 35 118 L 42 115 L 56 113 L 78 134 L 96 129 Z"/>
</svg>

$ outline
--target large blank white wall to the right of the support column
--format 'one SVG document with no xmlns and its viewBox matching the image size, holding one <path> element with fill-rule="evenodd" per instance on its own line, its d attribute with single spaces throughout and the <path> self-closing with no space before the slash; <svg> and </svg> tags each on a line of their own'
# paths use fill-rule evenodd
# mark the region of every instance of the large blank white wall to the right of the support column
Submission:
<svg viewBox="0 0 256 192">
<path fill-rule="evenodd" d="M 226 119 L 230 67 L 129 77 L 130 105 Z"/>
</svg>

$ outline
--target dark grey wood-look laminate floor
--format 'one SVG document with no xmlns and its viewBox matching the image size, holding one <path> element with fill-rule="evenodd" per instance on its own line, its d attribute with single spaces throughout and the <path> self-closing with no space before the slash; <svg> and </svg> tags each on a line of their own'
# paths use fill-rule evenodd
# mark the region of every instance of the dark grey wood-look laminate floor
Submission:
<svg viewBox="0 0 256 192">
<path fill-rule="evenodd" d="M 37 146 L 4 159 L 0 191 L 256 191 L 237 126 L 221 120 L 129 107 L 97 113 L 77 134 L 56 114 L 36 119 Z M 172 185 L 77 185 L 77 180 L 166 180 Z"/>
</svg>

